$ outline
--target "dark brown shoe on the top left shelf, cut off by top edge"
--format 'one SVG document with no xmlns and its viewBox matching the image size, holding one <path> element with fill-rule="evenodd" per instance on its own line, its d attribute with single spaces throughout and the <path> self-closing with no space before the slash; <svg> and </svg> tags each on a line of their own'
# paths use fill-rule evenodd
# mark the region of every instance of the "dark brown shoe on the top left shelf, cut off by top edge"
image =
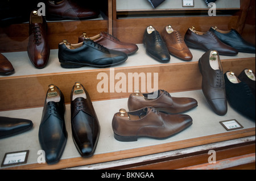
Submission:
<svg viewBox="0 0 256 181">
<path fill-rule="evenodd" d="M 96 7 L 96 6 L 94 6 Z M 90 6 L 90 2 L 85 5 L 78 4 L 71 0 L 64 0 L 60 3 L 53 3 L 47 1 L 46 3 L 46 18 L 47 20 L 83 20 L 97 18 L 100 10 Z"/>
</svg>

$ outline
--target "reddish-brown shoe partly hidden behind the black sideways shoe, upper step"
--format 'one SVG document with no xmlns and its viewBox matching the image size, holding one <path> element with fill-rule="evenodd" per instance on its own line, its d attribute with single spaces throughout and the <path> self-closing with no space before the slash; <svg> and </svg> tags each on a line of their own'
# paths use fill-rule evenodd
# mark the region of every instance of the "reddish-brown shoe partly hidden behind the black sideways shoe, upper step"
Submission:
<svg viewBox="0 0 256 181">
<path fill-rule="evenodd" d="M 93 37 L 86 37 L 86 33 L 82 33 L 82 35 L 79 36 L 79 43 L 84 41 L 84 39 L 93 40 L 108 49 L 118 50 L 127 55 L 134 54 L 139 49 L 136 44 L 122 42 L 106 32 L 100 32 L 100 34 Z"/>
</svg>

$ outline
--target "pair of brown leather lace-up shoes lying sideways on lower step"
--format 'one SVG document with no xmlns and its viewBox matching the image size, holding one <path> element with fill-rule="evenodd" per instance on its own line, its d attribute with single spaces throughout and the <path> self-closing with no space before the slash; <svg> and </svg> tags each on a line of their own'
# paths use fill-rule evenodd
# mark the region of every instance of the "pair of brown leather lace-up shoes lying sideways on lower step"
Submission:
<svg viewBox="0 0 256 181">
<path fill-rule="evenodd" d="M 191 116 L 181 112 L 197 107 L 195 99 L 174 98 L 164 90 L 153 93 L 131 94 L 128 100 L 130 112 L 121 109 L 115 113 L 112 128 L 116 140 L 137 141 L 139 137 L 165 139 L 192 125 Z"/>
</svg>

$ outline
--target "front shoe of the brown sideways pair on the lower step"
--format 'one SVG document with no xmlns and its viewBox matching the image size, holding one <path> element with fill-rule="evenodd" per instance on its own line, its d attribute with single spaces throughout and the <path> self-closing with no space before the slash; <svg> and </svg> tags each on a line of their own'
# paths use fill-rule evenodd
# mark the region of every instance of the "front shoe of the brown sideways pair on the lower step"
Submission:
<svg viewBox="0 0 256 181">
<path fill-rule="evenodd" d="M 137 141 L 139 137 L 166 139 L 192 125 L 188 115 L 169 115 L 155 108 L 126 112 L 121 109 L 112 120 L 114 138 L 118 141 Z"/>
</svg>

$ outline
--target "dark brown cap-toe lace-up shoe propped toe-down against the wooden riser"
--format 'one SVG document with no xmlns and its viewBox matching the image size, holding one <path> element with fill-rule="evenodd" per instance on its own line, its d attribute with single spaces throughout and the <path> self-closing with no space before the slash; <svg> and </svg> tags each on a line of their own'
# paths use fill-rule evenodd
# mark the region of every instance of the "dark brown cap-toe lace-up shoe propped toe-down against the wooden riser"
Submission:
<svg viewBox="0 0 256 181">
<path fill-rule="evenodd" d="M 204 53 L 199 60 L 199 69 L 202 74 L 202 91 L 210 107 L 218 115 L 225 115 L 228 111 L 226 103 L 225 81 L 220 56 L 217 53 L 218 69 L 213 69 L 210 65 L 210 53 Z"/>
</svg>

